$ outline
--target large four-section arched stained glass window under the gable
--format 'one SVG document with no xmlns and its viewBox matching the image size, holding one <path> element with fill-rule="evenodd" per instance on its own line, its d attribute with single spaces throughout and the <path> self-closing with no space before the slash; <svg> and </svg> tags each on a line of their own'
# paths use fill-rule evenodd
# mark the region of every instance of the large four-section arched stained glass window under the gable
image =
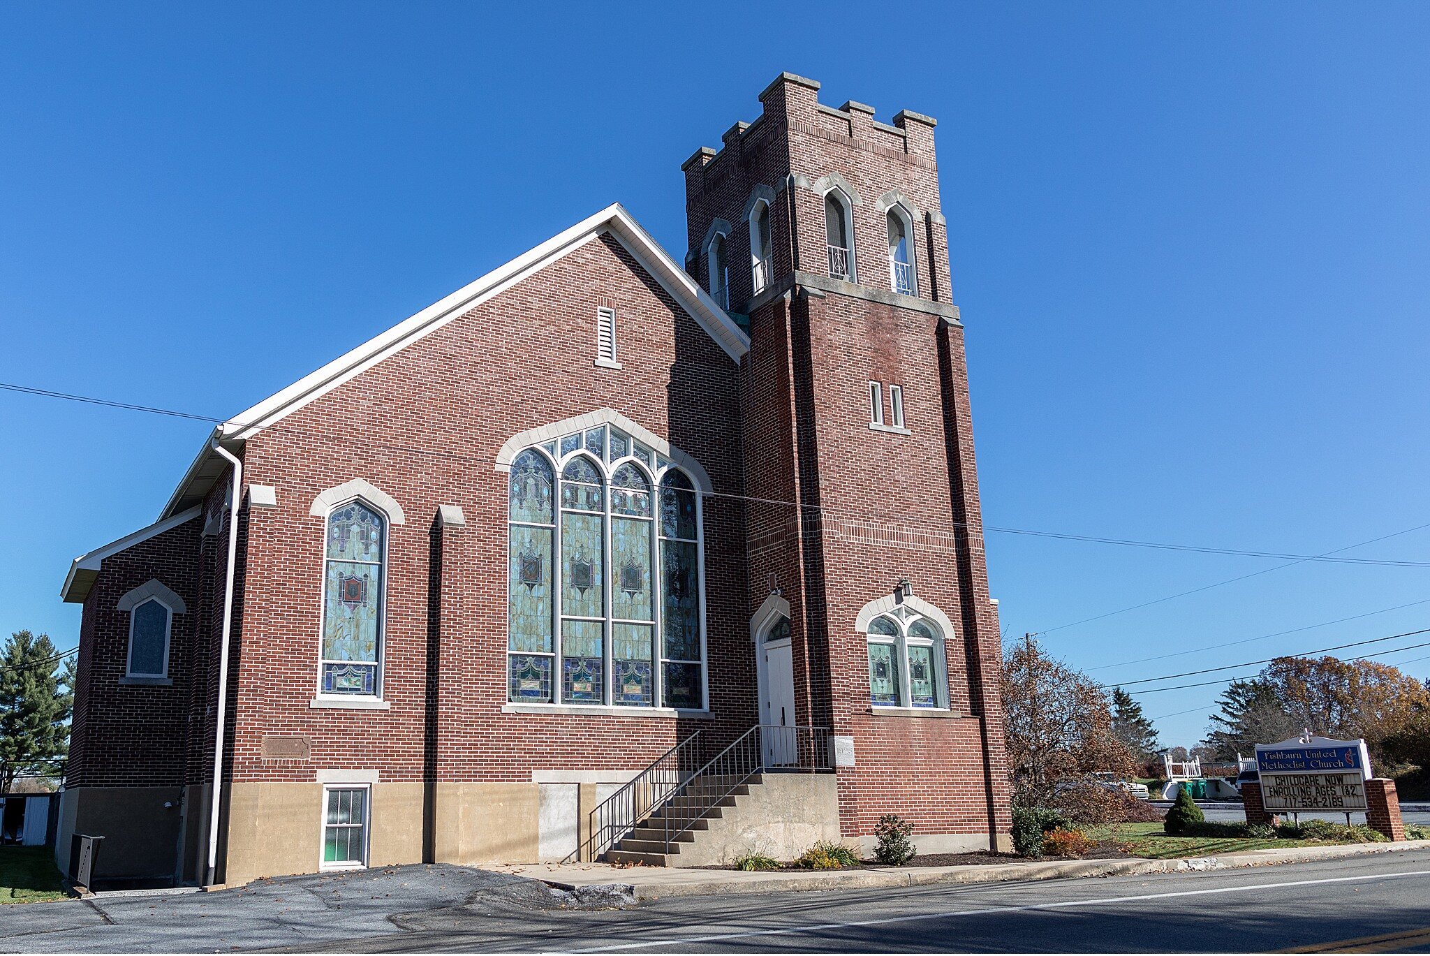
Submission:
<svg viewBox="0 0 1430 956">
<path fill-rule="evenodd" d="M 618 428 L 573 432 L 516 455 L 509 522 L 509 700 L 704 707 L 699 504 L 682 471 Z"/>
</svg>

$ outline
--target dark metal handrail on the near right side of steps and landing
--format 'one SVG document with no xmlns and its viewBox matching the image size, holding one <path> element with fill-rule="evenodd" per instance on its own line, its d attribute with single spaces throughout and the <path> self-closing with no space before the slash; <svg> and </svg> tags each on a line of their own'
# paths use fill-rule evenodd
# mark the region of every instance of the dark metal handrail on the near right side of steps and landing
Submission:
<svg viewBox="0 0 1430 956">
<path fill-rule="evenodd" d="M 828 727 L 756 724 L 689 776 L 661 807 L 665 852 L 756 773 L 834 770 Z"/>
</svg>

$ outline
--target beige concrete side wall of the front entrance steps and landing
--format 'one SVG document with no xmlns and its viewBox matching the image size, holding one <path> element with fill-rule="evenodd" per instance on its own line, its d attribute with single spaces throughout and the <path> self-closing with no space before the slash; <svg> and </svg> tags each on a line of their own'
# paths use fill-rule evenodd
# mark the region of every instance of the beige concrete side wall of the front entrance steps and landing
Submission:
<svg viewBox="0 0 1430 956">
<path fill-rule="evenodd" d="M 819 840 L 839 840 L 839 789 L 834 774 L 769 773 L 735 799 L 672 866 L 716 866 L 751 850 L 792 860 Z"/>
</svg>

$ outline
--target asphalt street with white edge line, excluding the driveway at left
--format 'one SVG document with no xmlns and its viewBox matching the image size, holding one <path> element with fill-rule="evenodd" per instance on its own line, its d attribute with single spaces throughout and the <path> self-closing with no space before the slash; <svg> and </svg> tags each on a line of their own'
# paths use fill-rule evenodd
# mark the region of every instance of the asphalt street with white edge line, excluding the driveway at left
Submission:
<svg viewBox="0 0 1430 956">
<path fill-rule="evenodd" d="M 1396 952 L 1430 952 L 1430 852 L 1211 873 L 685 897 L 519 919 L 463 910 L 409 926 L 323 949 L 1264 952 L 1394 935 Z"/>
</svg>

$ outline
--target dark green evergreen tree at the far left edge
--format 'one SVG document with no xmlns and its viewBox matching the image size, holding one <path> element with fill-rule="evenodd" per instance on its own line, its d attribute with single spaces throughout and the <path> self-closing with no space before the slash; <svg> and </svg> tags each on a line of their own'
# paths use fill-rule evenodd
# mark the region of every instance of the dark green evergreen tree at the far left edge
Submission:
<svg viewBox="0 0 1430 956">
<path fill-rule="evenodd" d="M 0 651 L 0 793 L 19 776 L 53 771 L 69 751 L 73 701 L 73 668 L 50 638 L 11 634 Z"/>
</svg>

